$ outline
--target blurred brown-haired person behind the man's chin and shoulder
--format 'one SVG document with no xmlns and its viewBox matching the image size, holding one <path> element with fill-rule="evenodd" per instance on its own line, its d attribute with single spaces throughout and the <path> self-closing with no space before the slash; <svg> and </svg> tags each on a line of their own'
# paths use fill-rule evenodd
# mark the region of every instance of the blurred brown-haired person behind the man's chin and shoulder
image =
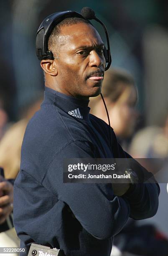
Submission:
<svg viewBox="0 0 168 256">
<path fill-rule="evenodd" d="M 117 139 L 122 142 L 132 135 L 138 117 L 135 109 L 137 88 L 133 77 L 122 69 L 107 71 L 104 76 L 102 95 L 107 105 L 111 126 Z M 90 98 L 89 106 L 93 115 L 108 123 L 101 97 Z"/>
</svg>

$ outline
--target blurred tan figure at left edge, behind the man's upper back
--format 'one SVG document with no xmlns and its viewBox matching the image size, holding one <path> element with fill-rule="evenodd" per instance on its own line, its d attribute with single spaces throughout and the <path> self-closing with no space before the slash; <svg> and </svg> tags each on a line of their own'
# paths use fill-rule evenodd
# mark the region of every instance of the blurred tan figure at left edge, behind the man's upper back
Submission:
<svg viewBox="0 0 168 256">
<path fill-rule="evenodd" d="M 0 141 L 0 166 L 3 167 L 6 179 L 15 179 L 20 169 L 20 151 L 25 128 L 31 117 L 40 109 L 43 96 L 39 94 L 22 109 L 21 120 L 10 126 Z"/>
</svg>

